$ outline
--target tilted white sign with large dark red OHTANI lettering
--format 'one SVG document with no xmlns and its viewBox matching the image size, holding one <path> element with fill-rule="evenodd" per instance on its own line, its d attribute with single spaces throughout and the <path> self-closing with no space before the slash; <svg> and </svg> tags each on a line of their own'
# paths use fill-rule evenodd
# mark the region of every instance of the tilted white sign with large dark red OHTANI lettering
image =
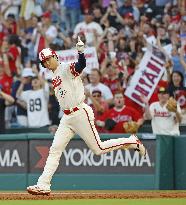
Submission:
<svg viewBox="0 0 186 205">
<path fill-rule="evenodd" d="M 166 55 L 159 48 L 149 44 L 125 91 L 125 95 L 144 107 L 141 95 L 150 99 L 165 72 L 165 62 Z"/>
</svg>

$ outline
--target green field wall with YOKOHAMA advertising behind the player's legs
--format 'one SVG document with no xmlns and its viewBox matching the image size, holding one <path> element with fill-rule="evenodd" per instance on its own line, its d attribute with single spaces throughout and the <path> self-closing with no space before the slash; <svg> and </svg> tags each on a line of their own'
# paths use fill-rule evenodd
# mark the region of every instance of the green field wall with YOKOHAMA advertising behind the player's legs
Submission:
<svg viewBox="0 0 186 205">
<path fill-rule="evenodd" d="M 128 135 L 101 135 L 102 140 Z M 139 135 L 147 147 L 95 156 L 76 136 L 62 155 L 52 189 L 186 189 L 186 136 Z M 35 184 L 48 156 L 50 134 L 0 135 L 0 190 Z"/>
</svg>

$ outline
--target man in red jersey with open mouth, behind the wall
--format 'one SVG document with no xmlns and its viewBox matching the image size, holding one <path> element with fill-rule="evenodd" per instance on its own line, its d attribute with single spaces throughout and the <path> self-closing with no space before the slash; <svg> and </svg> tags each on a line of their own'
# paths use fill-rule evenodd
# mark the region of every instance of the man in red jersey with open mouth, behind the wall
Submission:
<svg viewBox="0 0 186 205">
<path fill-rule="evenodd" d="M 96 123 L 100 127 L 105 127 L 109 133 L 125 133 L 123 123 L 128 121 L 136 121 L 138 127 L 143 124 L 143 118 L 140 114 L 132 107 L 125 106 L 124 96 L 118 92 L 114 94 L 114 107 L 108 110 Z"/>
</svg>

